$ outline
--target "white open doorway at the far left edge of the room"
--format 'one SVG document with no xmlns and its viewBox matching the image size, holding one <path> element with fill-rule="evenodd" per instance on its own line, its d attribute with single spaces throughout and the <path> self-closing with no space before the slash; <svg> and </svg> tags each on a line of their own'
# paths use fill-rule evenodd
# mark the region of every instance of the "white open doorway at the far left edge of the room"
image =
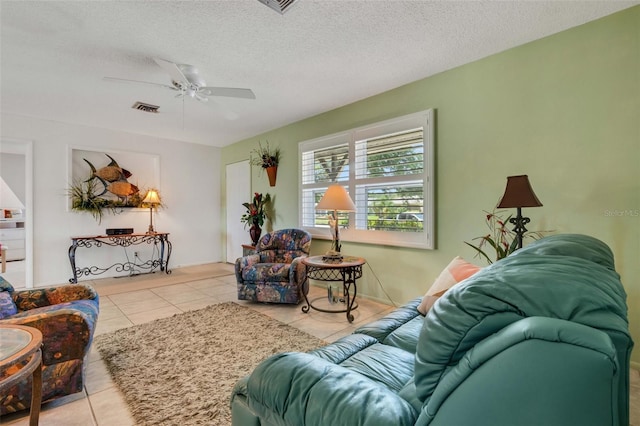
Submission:
<svg viewBox="0 0 640 426">
<path fill-rule="evenodd" d="M 0 141 L 2 192 L 0 231 L 8 249 L 2 276 L 16 288 L 33 288 L 33 143 Z"/>
</svg>

